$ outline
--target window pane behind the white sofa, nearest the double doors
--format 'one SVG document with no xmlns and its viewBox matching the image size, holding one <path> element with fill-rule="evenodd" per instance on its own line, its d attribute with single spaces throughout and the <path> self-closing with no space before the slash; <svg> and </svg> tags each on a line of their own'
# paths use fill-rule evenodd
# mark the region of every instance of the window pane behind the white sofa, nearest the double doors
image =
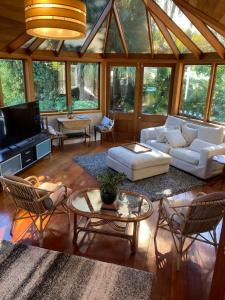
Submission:
<svg viewBox="0 0 225 300">
<path fill-rule="evenodd" d="M 203 119 L 210 72 L 210 65 L 185 66 L 180 113 L 196 119 Z"/>
</svg>

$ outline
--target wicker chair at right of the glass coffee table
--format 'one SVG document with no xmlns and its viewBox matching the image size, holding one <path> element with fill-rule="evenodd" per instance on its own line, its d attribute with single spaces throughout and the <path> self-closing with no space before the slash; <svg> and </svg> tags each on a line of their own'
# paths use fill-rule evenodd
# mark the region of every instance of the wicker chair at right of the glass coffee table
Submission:
<svg viewBox="0 0 225 300">
<path fill-rule="evenodd" d="M 168 201 L 159 203 L 159 216 L 155 231 L 155 243 L 159 228 L 171 232 L 178 253 L 177 269 L 180 269 L 181 258 L 194 241 L 201 241 L 218 246 L 216 227 L 224 216 L 225 193 L 200 193 L 193 201 Z M 203 233 L 208 232 L 207 237 Z M 191 242 L 184 248 L 187 238 Z"/>
</svg>

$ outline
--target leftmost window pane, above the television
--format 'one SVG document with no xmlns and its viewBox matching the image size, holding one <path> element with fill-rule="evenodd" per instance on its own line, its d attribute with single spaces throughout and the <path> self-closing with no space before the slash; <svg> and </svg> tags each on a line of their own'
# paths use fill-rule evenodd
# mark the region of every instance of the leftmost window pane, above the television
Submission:
<svg viewBox="0 0 225 300">
<path fill-rule="evenodd" d="M 5 106 L 26 101 L 22 60 L 0 59 L 0 84 Z"/>
</svg>

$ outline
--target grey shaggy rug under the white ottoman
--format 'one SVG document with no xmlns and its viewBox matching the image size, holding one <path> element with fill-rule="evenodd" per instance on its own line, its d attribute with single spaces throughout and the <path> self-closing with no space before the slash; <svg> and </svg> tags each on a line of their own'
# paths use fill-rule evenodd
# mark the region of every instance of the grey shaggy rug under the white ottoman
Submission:
<svg viewBox="0 0 225 300">
<path fill-rule="evenodd" d="M 76 156 L 74 157 L 74 161 L 96 178 L 98 174 L 103 174 L 108 169 L 106 166 L 106 155 L 106 152 L 101 152 L 92 155 Z M 174 167 L 170 167 L 169 172 L 166 174 L 136 182 L 126 179 L 121 188 L 141 193 L 149 197 L 152 201 L 156 201 L 165 196 L 184 193 L 204 184 L 204 181 Z"/>
</svg>

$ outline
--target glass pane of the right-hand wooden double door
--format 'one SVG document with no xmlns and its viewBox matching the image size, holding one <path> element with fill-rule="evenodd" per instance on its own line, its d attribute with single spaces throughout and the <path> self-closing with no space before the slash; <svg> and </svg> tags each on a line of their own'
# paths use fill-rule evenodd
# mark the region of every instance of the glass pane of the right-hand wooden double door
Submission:
<svg viewBox="0 0 225 300">
<path fill-rule="evenodd" d="M 142 113 L 167 114 L 172 68 L 145 67 Z"/>
</svg>

